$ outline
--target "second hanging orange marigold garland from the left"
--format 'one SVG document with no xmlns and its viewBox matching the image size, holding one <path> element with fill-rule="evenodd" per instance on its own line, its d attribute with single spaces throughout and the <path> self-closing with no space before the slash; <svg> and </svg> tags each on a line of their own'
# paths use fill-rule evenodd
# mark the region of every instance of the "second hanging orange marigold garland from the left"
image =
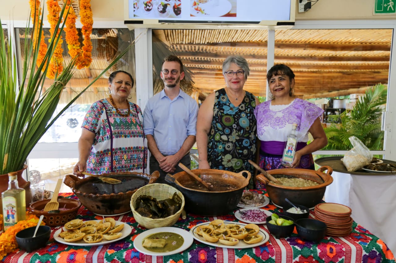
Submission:
<svg viewBox="0 0 396 263">
<path fill-rule="evenodd" d="M 60 29 L 54 34 L 55 26 L 59 21 L 59 14 L 61 13 L 61 7 L 58 4 L 57 0 L 47 0 L 47 9 L 48 9 L 48 22 L 51 25 L 49 32 L 51 33 L 51 39 L 56 39 L 60 33 Z M 60 74 L 63 71 L 63 48 L 62 48 L 62 37 L 59 38 L 58 44 L 55 47 L 55 51 L 53 56 L 51 57 L 51 61 L 49 62 L 49 68 L 47 71 L 47 77 L 50 79 L 55 78 L 55 74 Z"/>
</svg>

